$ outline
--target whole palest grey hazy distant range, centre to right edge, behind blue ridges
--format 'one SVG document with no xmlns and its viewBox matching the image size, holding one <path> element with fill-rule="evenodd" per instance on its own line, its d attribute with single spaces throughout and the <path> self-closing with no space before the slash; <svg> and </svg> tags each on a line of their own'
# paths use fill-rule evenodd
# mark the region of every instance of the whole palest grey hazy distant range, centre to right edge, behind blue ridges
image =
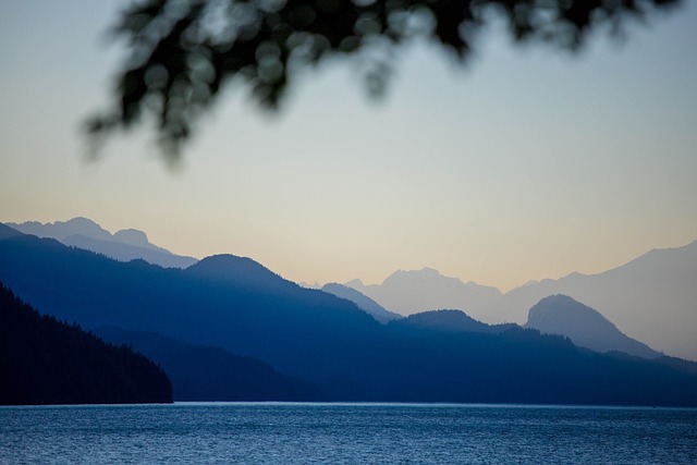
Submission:
<svg viewBox="0 0 697 465">
<path fill-rule="evenodd" d="M 533 282 L 505 294 L 464 283 L 425 268 L 396 271 L 382 284 L 358 280 L 347 286 L 390 311 L 411 315 L 456 308 L 488 323 L 523 325 L 540 299 L 567 295 L 600 311 L 629 338 L 657 351 L 697 360 L 697 241 L 684 247 L 655 249 L 598 274 L 572 273 Z"/>
</svg>

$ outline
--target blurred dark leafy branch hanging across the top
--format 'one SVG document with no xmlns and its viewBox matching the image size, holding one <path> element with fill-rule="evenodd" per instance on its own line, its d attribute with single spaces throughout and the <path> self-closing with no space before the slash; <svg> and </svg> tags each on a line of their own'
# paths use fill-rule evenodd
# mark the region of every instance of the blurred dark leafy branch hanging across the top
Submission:
<svg viewBox="0 0 697 465">
<path fill-rule="evenodd" d="M 113 32 L 130 58 L 115 108 L 88 123 L 91 134 L 129 129 L 152 113 L 166 154 L 175 158 L 197 117 L 224 85 L 242 81 L 276 109 L 305 69 L 337 56 L 364 59 L 368 89 L 379 94 L 392 52 L 426 37 L 460 60 L 477 34 L 503 19 L 517 41 L 580 47 L 591 30 L 621 29 L 629 17 L 678 0 L 142 0 Z"/>
</svg>

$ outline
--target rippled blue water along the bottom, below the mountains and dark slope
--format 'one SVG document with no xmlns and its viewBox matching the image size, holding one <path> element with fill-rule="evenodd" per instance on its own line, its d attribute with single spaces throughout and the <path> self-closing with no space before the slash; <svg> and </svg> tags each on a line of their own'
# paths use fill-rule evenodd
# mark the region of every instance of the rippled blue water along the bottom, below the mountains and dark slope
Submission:
<svg viewBox="0 0 697 465">
<path fill-rule="evenodd" d="M 697 409 L 264 403 L 0 407 L 0 462 L 697 464 Z"/>
</svg>

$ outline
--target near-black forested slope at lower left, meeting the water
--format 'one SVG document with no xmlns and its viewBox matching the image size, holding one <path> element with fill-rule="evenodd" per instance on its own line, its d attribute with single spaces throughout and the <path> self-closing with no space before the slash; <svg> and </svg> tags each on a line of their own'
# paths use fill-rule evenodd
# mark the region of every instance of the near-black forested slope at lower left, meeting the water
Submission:
<svg viewBox="0 0 697 465">
<path fill-rule="evenodd" d="M 172 402 L 170 380 L 152 362 L 39 315 L 2 283 L 0 379 L 4 405 Z"/>
</svg>

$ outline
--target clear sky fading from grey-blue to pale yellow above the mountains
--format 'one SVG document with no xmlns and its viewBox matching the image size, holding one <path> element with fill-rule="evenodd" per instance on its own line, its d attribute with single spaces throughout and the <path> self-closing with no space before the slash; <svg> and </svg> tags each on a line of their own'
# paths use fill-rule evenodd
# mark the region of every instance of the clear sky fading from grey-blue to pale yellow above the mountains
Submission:
<svg viewBox="0 0 697 465">
<path fill-rule="evenodd" d="M 124 4 L 0 2 L 1 222 L 87 217 L 296 282 L 430 267 L 502 291 L 697 240 L 695 1 L 577 54 L 496 26 L 466 66 L 416 42 L 379 101 L 351 60 L 308 72 L 278 114 L 230 88 L 175 168 L 147 124 L 87 158 Z"/>
</svg>

